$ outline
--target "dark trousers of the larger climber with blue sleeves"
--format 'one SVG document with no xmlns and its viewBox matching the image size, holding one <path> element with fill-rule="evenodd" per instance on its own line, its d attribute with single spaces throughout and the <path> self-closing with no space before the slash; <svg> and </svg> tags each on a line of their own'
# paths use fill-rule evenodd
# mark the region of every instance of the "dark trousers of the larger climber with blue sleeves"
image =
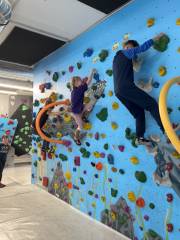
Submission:
<svg viewBox="0 0 180 240">
<path fill-rule="evenodd" d="M 154 98 L 149 96 L 146 92 L 139 89 L 135 85 L 132 87 L 123 87 L 118 93 L 116 92 L 116 97 L 136 119 L 137 137 L 143 137 L 146 130 L 145 110 L 150 112 L 164 133 L 164 127 L 161 122 L 158 103 Z"/>
</svg>

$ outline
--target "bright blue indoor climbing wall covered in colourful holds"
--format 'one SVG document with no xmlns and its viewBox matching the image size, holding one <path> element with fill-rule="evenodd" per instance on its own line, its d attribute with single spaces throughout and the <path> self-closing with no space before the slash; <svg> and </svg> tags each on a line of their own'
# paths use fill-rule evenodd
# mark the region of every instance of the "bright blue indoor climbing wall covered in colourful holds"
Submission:
<svg viewBox="0 0 180 240">
<path fill-rule="evenodd" d="M 146 135 L 156 137 L 147 149 L 136 146 L 135 120 L 113 92 L 112 61 L 124 41 L 143 43 L 164 32 L 134 66 L 136 84 L 158 99 L 163 84 L 179 75 L 178 9 L 179 0 L 135 0 L 34 71 L 34 118 L 49 96 L 51 102 L 70 98 L 72 76 L 85 78 L 92 68 L 97 74 L 84 99 L 93 110 L 81 146 L 73 141 L 76 124 L 66 104 L 48 112 L 43 126 L 65 145 L 48 146 L 34 132 L 32 182 L 134 240 L 180 239 L 180 156 L 149 113 Z M 175 85 L 168 96 L 174 128 L 180 122 L 178 97 Z"/>
</svg>

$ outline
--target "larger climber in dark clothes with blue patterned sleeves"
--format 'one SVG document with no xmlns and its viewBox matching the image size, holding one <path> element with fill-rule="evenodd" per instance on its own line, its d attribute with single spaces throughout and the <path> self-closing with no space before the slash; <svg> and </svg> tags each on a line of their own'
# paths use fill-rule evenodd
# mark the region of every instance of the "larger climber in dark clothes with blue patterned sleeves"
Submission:
<svg viewBox="0 0 180 240">
<path fill-rule="evenodd" d="M 133 61 L 137 59 L 138 54 L 151 48 L 154 42 L 158 41 L 162 35 L 163 33 L 142 45 L 139 45 L 136 40 L 128 40 L 124 43 L 123 49 L 116 53 L 113 60 L 114 92 L 116 97 L 136 119 L 137 145 L 146 145 L 150 142 L 144 137 L 146 130 L 145 110 L 150 112 L 164 134 L 158 103 L 135 85 L 133 71 Z"/>
</svg>

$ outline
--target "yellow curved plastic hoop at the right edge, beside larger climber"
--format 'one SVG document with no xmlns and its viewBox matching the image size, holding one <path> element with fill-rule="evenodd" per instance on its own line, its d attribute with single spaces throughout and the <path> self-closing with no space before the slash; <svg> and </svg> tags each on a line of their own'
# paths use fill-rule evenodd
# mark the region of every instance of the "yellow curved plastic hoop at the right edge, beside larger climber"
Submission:
<svg viewBox="0 0 180 240">
<path fill-rule="evenodd" d="M 180 76 L 175 77 L 164 84 L 159 96 L 159 112 L 160 112 L 161 121 L 164 126 L 165 132 L 169 140 L 171 141 L 172 145 L 176 149 L 176 151 L 180 154 L 180 140 L 172 127 L 172 124 L 169 119 L 168 110 L 167 110 L 167 95 L 168 95 L 169 89 L 175 83 L 180 84 Z"/>
</svg>

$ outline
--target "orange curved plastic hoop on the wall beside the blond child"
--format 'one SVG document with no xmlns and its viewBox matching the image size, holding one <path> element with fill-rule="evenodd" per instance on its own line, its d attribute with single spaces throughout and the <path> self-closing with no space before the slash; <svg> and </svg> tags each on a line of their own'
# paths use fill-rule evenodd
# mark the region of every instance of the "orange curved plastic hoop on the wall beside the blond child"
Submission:
<svg viewBox="0 0 180 240">
<path fill-rule="evenodd" d="M 43 109 L 41 109 L 41 111 L 38 113 L 37 118 L 36 118 L 36 130 L 38 135 L 45 141 L 50 142 L 50 143 L 57 143 L 57 144 L 63 144 L 66 145 L 66 141 L 65 140 L 56 140 L 56 139 L 52 139 L 47 137 L 41 130 L 40 128 L 40 120 L 42 115 L 49 109 L 58 105 L 69 105 L 70 101 L 64 100 L 64 101 L 59 101 L 59 102 L 55 102 L 55 103 L 50 103 L 48 105 L 46 105 L 45 107 L 43 107 Z"/>
</svg>

